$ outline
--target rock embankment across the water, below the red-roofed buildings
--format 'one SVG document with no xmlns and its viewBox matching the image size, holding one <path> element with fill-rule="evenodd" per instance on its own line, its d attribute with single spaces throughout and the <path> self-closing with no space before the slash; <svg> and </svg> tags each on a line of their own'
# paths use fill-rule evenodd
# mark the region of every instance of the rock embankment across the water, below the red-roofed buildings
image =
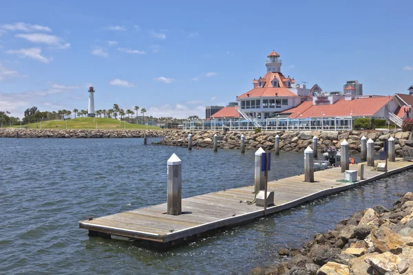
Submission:
<svg viewBox="0 0 413 275">
<path fill-rule="evenodd" d="M 403 149 L 413 148 L 413 134 L 403 131 L 274 131 L 254 133 L 253 131 L 169 131 L 158 144 L 167 146 L 188 146 L 188 135 L 192 134 L 192 146 L 199 148 L 212 148 L 213 135 L 218 135 L 218 148 L 239 149 L 240 137 L 245 137 L 246 150 L 272 150 L 275 135 L 279 135 L 279 148 L 281 151 L 303 152 L 307 146 L 312 147 L 313 136 L 317 136 L 318 150 L 322 151 L 328 146 L 340 147 L 343 140 L 350 144 L 350 153 L 360 152 L 360 139 L 365 136 L 374 141 L 374 150 L 383 148 L 383 141 L 390 135 L 395 139 L 396 155 L 400 156 Z"/>
</svg>

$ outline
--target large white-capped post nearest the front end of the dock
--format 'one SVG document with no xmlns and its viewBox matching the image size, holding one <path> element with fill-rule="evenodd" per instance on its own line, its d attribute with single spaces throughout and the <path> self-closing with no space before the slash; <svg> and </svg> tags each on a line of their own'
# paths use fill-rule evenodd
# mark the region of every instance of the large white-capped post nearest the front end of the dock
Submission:
<svg viewBox="0 0 413 275">
<path fill-rule="evenodd" d="M 182 214 L 182 161 L 173 153 L 168 159 L 167 214 Z"/>
</svg>

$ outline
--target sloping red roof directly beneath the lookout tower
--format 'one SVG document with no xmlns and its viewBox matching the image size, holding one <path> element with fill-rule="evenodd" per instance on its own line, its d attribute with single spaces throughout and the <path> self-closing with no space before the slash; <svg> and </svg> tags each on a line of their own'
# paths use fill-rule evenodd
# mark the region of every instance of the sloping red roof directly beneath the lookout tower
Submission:
<svg viewBox="0 0 413 275">
<path fill-rule="evenodd" d="M 278 80 L 279 87 L 273 87 L 273 83 L 271 83 L 271 81 L 274 78 Z M 287 89 L 282 79 L 284 79 L 284 76 L 282 75 L 282 73 L 268 72 L 261 79 L 262 83 L 265 83 L 262 88 L 257 87 L 257 88 L 251 89 L 250 91 L 247 91 L 241 96 L 238 96 L 238 98 L 248 98 L 248 97 L 258 98 L 260 96 L 275 96 L 275 94 L 277 94 L 277 96 L 297 96 L 292 91 Z M 247 94 L 249 96 L 247 96 Z"/>
</svg>

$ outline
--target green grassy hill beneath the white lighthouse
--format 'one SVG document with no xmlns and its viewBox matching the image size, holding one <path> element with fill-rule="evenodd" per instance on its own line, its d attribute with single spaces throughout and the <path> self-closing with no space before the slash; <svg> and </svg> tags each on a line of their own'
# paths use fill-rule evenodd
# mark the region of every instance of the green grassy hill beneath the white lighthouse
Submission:
<svg viewBox="0 0 413 275">
<path fill-rule="evenodd" d="M 98 129 L 160 129 L 157 126 L 146 126 L 140 124 L 131 124 L 126 122 L 120 122 L 120 120 L 115 120 L 114 118 L 74 118 L 72 120 L 47 120 L 41 122 L 41 129 L 96 129 L 96 123 L 98 124 Z M 40 129 L 40 122 L 26 124 L 23 126 L 28 126 L 29 129 Z M 23 127 L 22 126 L 22 127 Z M 19 128 L 20 126 L 14 126 Z"/>
</svg>

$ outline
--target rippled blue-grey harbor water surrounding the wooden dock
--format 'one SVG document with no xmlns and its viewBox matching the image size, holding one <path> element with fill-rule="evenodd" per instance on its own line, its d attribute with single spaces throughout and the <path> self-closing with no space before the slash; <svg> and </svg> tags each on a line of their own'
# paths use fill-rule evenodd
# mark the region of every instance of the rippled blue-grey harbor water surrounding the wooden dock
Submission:
<svg viewBox="0 0 413 275">
<path fill-rule="evenodd" d="M 141 139 L 0 139 L 0 274 L 247 274 L 275 265 L 353 212 L 413 190 L 407 171 L 157 252 L 89 238 L 78 221 L 166 201 L 166 162 L 182 159 L 182 196 L 253 184 L 254 152 L 142 146 Z M 273 156 L 270 179 L 302 173 L 303 155 Z"/>
</svg>

